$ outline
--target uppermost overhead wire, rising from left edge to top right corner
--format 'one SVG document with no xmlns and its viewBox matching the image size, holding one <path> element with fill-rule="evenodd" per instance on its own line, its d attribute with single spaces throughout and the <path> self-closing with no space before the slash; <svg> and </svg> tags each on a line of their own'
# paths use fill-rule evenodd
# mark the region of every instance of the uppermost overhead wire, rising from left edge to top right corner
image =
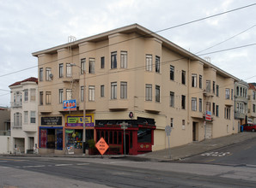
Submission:
<svg viewBox="0 0 256 188">
<path fill-rule="evenodd" d="M 256 3 L 249 4 L 249 5 L 247 5 L 247 6 L 243 6 L 243 7 L 237 8 L 237 9 L 231 9 L 231 10 L 229 10 L 229 11 L 225 11 L 225 12 L 222 12 L 222 13 L 219 13 L 219 14 L 216 14 L 216 15 L 210 15 L 210 16 L 207 16 L 207 17 L 198 19 L 198 20 L 188 21 L 188 22 L 182 23 L 182 24 L 180 24 L 180 25 L 171 26 L 171 27 L 168 27 L 168 28 L 165 28 L 165 29 L 156 31 L 156 32 L 149 32 L 149 33 L 147 33 L 147 34 L 138 36 L 138 37 L 136 37 L 136 38 L 142 38 L 142 37 L 145 37 L 145 36 L 147 36 L 147 35 L 151 35 L 151 34 L 154 34 L 154 33 L 157 33 L 157 32 L 163 32 L 163 31 L 167 31 L 167 30 L 170 30 L 170 29 L 174 29 L 174 28 L 176 28 L 176 27 L 186 26 L 186 25 L 188 25 L 188 24 L 192 24 L 192 23 L 195 23 L 195 22 L 198 22 L 198 21 L 204 21 L 204 20 L 207 20 L 207 19 L 210 19 L 210 18 L 219 16 L 219 15 L 225 15 L 225 14 L 228 14 L 228 13 L 231 13 L 231 12 L 234 12 L 234 11 L 237 11 L 237 10 L 246 9 L 246 8 L 252 7 L 252 6 L 254 6 L 254 5 L 256 5 Z M 130 40 L 136 39 L 136 38 L 126 39 L 126 40 L 124 40 L 124 41 L 120 41 L 120 42 L 114 43 L 114 44 L 107 44 L 106 46 L 102 46 L 102 47 L 96 48 L 96 49 L 94 49 L 94 50 L 100 50 L 100 49 L 102 49 L 102 48 L 106 48 L 106 47 L 108 47 L 108 46 L 112 46 L 112 45 L 115 45 L 115 44 L 124 43 L 124 42 L 130 41 Z M 78 53 L 78 54 L 72 55 L 72 56 L 79 56 L 79 55 L 81 55 L 81 54 L 88 53 L 88 52 L 94 51 L 94 50 L 88 50 L 88 51 L 85 51 L 85 52 L 82 52 L 82 53 Z M 52 61 L 52 62 L 58 62 L 58 61 L 61 61 L 61 60 L 66 59 L 66 58 L 70 58 L 70 57 L 72 57 L 72 56 L 67 56 L 67 57 L 64 57 L 64 58 L 61 58 L 61 59 L 58 59 L 58 60 L 54 60 L 54 61 Z M 51 63 L 51 62 L 46 62 L 46 63 L 43 63 L 42 65 L 46 65 L 46 64 L 48 64 L 48 63 Z M 3 74 L 3 75 L 0 75 L 0 78 L 3 77 L 3 76 L 7 76 L 7 75 L 10 75 L 10 74 L 13 74 L 13 73 L 19 73 L 19 72 L 26 71 L 26 70 L 32 69 L 32 68 L 37 68 L 37 67 L 38 67 L 38 65 L 33 66 L 33 67 L 30 67 L 30 68 L 24 68 L 24 69 L 15 71 L 15 72 L 6 73 L 6 74 Z"/>
</svg>

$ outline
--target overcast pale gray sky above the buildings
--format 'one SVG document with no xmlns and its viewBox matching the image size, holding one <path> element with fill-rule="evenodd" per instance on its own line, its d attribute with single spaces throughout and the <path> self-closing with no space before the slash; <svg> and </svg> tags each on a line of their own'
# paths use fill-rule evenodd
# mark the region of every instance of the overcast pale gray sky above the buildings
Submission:
<svg viewBox="0 0 256 188">
<path fill-rule="evenodd" d="M 70 35 L 81 39 L 134 23 L 157 32 L 253 3 L 256 1 L 0 0 L 0 106 L 9 105 L 9 85 L 38 77 L 37 58 L 31 53 L 65 44 Z M 231 38 L 200 53 L 204 54 L 255 44 L 255 24 L 256 6 L 252 6 L 157 33 L 192 53 Z M 239 79 L 256 81 L 256 45 L 204 56 Z M 30 69 L 20 72 L 24 68 Z"/>
</svg>

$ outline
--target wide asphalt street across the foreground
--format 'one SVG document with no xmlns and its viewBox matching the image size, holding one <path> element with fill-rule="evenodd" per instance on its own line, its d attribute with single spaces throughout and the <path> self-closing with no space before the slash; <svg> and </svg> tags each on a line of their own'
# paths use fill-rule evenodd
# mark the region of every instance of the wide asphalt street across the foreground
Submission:
<svg viewBox="0 0 256 188">
<path fill-rule="evenodd" d="M 255 187 L 254 177 L 252 168 L 207 164 L 0 157 L 2 187 Z"/>
</svg>

